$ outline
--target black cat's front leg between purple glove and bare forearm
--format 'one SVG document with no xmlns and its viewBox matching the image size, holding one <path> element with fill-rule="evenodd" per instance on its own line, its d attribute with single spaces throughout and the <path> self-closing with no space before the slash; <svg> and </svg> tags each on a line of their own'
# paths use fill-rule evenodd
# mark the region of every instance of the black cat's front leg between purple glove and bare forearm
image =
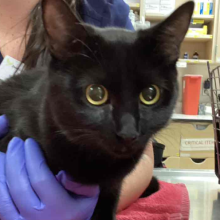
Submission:
<svg viewBox="0 0 220 220">
<path fill-rule="evenodd" d="M 101 186 L 99 201 L 92 220 L 116 220 L 121 181 Z"/>
</svg>

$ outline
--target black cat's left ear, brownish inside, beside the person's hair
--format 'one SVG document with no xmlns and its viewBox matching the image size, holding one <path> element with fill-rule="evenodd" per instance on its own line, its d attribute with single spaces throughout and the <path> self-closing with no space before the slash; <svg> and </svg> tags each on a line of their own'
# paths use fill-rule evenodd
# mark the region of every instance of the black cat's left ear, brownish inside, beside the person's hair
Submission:
<svg viewBox="0 0 220 220">
<path fill-rule="evenodd" d="M 47 34 L 48 46 L 58 59 L 68 57 L 71 52 L 79 52 L 86 38 L 86 30 L 64 0 L 43 0 L 42 16 Z"/>
</svg>

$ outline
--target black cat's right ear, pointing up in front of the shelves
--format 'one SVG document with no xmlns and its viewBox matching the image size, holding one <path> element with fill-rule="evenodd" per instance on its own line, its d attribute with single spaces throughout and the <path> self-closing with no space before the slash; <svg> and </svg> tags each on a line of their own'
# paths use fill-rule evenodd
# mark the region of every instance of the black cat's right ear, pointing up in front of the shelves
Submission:
<svg viewBox="0 0 220 220">
<path fill-rule="evenodd" d="M 179 58 L 180 45 L 185 38 L 194 11 L 194 2 L 179 7 L 155 29 L 156 43 L 168 62 Z"/>
</svg>

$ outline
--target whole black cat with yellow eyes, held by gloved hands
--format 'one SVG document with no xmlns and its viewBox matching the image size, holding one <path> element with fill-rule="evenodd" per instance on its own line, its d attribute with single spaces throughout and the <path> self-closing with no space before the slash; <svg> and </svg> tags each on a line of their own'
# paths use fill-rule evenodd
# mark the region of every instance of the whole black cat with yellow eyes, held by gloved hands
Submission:
<svg viewBox="0 0 220 220">
<path fill-rule="evenodd" d="M 173 112 L 193 8 L 188 2 L 159 25 L 131 32 L 79 23 L 62 0 L 43 0 L 51 60 L 0 85 L 0 114 L 11 126 L 1 151 L 13 136 L 34 138 L 54 173 L 100 185 L 92 219 L 115 219 L 123 178 Z"/>
</svg>

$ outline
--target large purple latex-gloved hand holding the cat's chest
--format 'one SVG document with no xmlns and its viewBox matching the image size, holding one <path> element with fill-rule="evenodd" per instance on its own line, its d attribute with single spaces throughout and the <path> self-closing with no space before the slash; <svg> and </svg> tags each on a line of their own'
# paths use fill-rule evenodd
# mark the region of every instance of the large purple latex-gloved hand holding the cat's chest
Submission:
<svg viewBox="0 0 220 220">
<path fill-rule="evenodd" d="M 0 153 L 0 219 L 90 219 L 99 187 L 77 184 L 63 171 L 57 179 L 33 139 L 13 138 L 6 155 Z"/>
</svg>

